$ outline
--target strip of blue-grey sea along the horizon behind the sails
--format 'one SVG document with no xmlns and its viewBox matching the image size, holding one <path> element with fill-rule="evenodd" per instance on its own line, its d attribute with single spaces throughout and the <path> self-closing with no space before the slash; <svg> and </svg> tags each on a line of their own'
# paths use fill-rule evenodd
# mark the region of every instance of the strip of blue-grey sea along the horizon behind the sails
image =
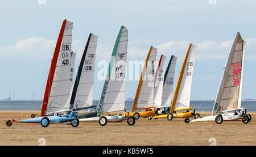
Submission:
<svg viewBox="0 0 256 157">
<path fill-rule="evenodd" d="M 98 105 L 99 100 L 93 100 Z M 196 112 L 212 112 L 214 100 L 191 100 L 191 107 Z M 125 107 L 131 111 L 133 100 L 126 100 Z M 41 111 L 42 100 L 0 100 L 0 111 Z M 247 112 L 256 112 L 256 101 L 242 101 L 242 107 Z"/>
</svg>

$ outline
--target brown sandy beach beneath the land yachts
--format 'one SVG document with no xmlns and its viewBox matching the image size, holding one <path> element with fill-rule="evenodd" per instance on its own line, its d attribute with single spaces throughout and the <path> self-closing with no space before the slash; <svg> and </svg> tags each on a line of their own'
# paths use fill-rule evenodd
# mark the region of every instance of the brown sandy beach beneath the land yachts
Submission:
<svg viewBox="0 0 256 157">
<path fill-rule="evenodd" d="M 36 111 L 0 111 L 0 145 L 256 145 L 256 113 L 250 113 L 248 124 L 242 121 L 184 123 L 184 118 L 147 120 L 139 118 L 134 126 L 127 122 L 108 123 L 100 126 L 97 122 L 80 122 L 77 128 L 66 124 L 50 124 L 43 128 L 40 124 L 13 123 L 7 120 L 30 118 Z M 200 113 L 201 116 L 210 113 Z M 43 139 L 43 140 L 41 140 Z"/>
</svg>

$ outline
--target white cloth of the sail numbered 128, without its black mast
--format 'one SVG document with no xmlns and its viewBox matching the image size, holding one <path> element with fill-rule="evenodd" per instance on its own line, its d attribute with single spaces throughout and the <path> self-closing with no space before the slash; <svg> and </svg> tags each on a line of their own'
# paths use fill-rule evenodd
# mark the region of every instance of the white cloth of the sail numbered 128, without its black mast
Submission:
<svg viewBox="0 0 256 157">
<path fill-rule="evenodd" d="M 93 105 L 93 78 L 97 41 L 98 36 L 92 34 L 90 36 L 84 65 L 82 65 L 80 80 L 77 86 L 76 97 L 73 104 L 74 109 Z"/>
</svg>

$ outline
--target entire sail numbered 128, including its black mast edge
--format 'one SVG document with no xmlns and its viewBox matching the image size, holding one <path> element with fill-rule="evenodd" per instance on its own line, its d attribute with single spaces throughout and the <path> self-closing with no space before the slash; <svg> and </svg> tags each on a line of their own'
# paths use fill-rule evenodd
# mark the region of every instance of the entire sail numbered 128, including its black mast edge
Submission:
<svg viewBox="0 0 256 157">
<path fill-rule="evenodd" d="M 93 77 L 98 36 L 90 33 L 77 71 L 70 104 L 73 109 L 93 105 Z"/>
</svg>

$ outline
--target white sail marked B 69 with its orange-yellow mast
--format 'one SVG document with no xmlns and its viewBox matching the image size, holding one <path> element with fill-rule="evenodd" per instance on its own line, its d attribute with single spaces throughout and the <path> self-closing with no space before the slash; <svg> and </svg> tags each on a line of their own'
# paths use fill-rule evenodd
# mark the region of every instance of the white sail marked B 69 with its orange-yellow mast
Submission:
<svg viewBox="0 0 256 157">
<path fill-rule="evenodd" d="M 174 92 L 170 113 L 174 109 L 187 108 L 190 105 L 193 67 L 196 57 L 196 46 L 189 44 L 187 54 L 181 67 L 179 79 Z"/>
</svg>

